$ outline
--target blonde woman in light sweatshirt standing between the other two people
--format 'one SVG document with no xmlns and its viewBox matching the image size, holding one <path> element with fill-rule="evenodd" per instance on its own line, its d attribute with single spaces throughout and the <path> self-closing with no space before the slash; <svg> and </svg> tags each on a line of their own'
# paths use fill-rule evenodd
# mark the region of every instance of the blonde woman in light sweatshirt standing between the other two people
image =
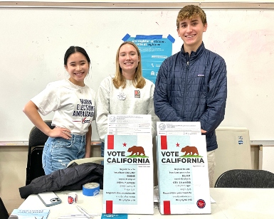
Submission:
<svg viewBox="0 0 274 219">
<path fill-rule="evenodd" d="M 135 43 L 125 41 L 116 54 L 116 73 L 100 83 L 96 102 L 96 127 L 102 141 L 107 134 L 107 114 L 151 114 L 152 136 L 156 136 L 153 82 L 142 77 L 141 53 Z"/>
</svg>

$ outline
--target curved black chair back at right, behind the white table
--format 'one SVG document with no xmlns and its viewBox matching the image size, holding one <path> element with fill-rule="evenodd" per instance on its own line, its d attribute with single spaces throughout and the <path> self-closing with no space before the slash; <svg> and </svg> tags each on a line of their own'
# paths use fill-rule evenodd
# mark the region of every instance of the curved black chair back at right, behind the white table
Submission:
<svg viewBox="0 0 274 219">
<path fill-rule="evenodd" d="M 274 188 L 274 173 L 254 169 L 232 169 L 217 178 L 215 188 Z"/>
</svg>

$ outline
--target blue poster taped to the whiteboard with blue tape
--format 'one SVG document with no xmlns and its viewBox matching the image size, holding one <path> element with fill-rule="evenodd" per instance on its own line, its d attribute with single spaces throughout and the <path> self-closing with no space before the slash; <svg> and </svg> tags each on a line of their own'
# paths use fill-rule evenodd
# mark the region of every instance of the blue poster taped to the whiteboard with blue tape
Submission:
<svg viewBox="0 0 274 219">
<path fill-rule="evenodd" d="M 172 55 L 172 43 L 175 39 L 171 35 L 163 38 L 162 35 L 137 35 L 132 37 L 127 34 L 122 38 L 122 41 L 132 41 L 138 46 L 142 56 L 142 75 L 155 84 L 162 62 Z"/>
</svg>

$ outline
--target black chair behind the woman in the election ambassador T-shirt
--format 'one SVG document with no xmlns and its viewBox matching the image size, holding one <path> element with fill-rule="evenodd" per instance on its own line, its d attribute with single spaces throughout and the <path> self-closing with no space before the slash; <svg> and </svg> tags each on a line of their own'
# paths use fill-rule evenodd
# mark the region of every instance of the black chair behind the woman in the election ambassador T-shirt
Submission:
<svg viewBox="0 0 274 219">
<path fill-rule="evenodd" d="M 51 126 L 51 121 L 45 121 L 48 127 Z M 28 162 L 26 166 L 26 185 L 31 183 L 33 178 L 45 175 L 42 166 L 43 146 L 46 143 L 48 136 L 43 134 L 37 127 L 33 127 L 28 137 Z"/>
</svg>

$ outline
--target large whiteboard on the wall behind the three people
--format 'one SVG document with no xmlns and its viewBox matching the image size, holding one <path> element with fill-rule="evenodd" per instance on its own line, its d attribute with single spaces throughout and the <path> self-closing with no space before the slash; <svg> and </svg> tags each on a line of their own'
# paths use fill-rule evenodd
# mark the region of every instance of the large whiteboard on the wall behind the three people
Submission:
<svg viewBox="0 0 274 219">
<path fill-rule="evenodd" d="M 26 141 L 33 124 L 23 105 L 48 82 L 68 78 L 63 55 L 82 46 L 92 70 L 86 84 L 98 89 L 115 73 L 122 38 L 169 34 L 173 53 L 181 48 L 176 33 L 179 9 L 0 8 L 0 141 Z M 228 99 L 221 126 L 246 127 L 251 140 L 274 139 L 274 10 L 205 9 L 206 48 L 220 54 L 228 70 Z M 43 119 L 51 119 L 52 114 Z M 93 124 L 93 140 L 98 134 Z"/>
</svg>

